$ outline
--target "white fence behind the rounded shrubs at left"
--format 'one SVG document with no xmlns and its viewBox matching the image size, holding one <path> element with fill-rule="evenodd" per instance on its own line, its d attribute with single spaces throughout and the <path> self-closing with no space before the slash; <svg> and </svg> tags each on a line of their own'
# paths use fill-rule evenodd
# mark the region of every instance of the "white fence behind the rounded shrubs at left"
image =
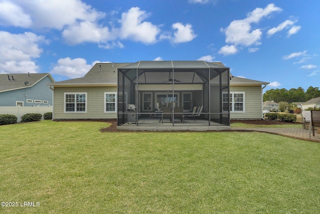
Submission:
<svg viewBox="0 0 320 214">
<path fill-rule="evenodd" d="M 18 118 L 27 113 L 39 113 L 43 114 L 46 112 L 52 112 L 52 106 L 0 106 L 0 114 L 13 114 Z"/>
</svg>

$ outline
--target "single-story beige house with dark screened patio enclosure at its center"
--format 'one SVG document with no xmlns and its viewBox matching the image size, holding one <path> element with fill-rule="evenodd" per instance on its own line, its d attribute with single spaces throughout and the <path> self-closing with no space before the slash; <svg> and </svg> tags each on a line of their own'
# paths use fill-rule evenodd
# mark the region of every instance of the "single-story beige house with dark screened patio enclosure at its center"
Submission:
<svg viewBox="0 0 320 214">
<path fill-rule="evenodd" d="M 128 104 L 133 104 L 136 126 L 158 126 L 143 121 L 155 109 L 171 107 L 174 115 L 175 107 L 187 114 L 202 106 L 205 126 L 229 126 L 230 118 L 263 118 L 262 89 L 267 84 L 233 77 L 219 62 L 139 61 L 97 63 L 82 78 L 47 85 L 53 90 L 53 120 L 117 118 L 121 126 L 131 114 Z M 183 126 L 174 120 L 165 125 Z"/>
</svg>

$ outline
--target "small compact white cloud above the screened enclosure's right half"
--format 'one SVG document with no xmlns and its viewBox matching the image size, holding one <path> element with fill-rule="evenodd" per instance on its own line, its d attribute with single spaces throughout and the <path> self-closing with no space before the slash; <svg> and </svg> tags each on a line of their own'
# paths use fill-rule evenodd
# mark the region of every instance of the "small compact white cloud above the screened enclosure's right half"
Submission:
<svg viewBox="0 0 320 214">
<path fill-rule="evenodd" d="M 183 25 L 181 23 L 174 23 L 172 28 L 175 30 L 172 39 L 173 43 L 190 42 L 196 37 L 190 24 Z"/>
</svg>

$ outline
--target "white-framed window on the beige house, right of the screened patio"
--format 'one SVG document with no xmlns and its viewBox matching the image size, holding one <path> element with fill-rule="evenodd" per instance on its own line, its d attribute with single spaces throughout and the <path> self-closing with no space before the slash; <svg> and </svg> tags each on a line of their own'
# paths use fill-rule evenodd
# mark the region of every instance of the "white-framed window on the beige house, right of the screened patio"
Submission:
<svg viewBox="0 0 320 214">
<path fill-rule="evenodd" d="M 230 112 L 244 113 L 244 92 L 231 92 L 229 94 L 229 108 Z M 228 103 L 227 94 L 222 94 L 222 104 L 226 107 Z M 223 108 L 225 109 L 225 108 Z"/>
</svg>

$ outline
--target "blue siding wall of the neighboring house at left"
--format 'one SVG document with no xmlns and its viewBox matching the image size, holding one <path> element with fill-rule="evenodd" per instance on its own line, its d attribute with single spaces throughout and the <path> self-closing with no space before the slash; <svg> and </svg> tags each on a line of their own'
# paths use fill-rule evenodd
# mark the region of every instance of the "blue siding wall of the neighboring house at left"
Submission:
<svg viewBox="0 0 320 214">
<path fill-rule="evenodd" d="M 47 83 L 52 83 L 48 76 L 32 87 L 1 92 L 0 106 L 15 106 L 16 101 L 22 101 L 23 106 L 52 106 L 52 90 L 45 85 Z M 33 100 L 33 103 L 27 103 L 27 99 Z M 34 100 L 41 100 L 41 103 L 34 103 Z M 43 100 L 48 103 L 42 103 Z"/>
</svg>

